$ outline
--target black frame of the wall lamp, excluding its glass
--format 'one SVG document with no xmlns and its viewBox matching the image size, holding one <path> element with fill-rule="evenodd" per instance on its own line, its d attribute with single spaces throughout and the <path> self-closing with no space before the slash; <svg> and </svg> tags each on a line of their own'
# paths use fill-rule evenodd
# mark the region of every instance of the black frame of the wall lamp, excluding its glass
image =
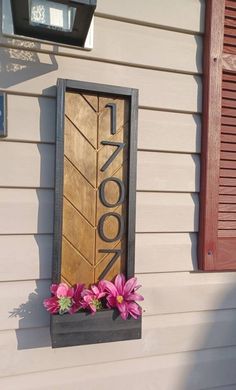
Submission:
<svg viewBox="0 0 236 390">
<path fill-rule="evenodd" d="M 31 25 L 28 0 L 11 0 L 14 33 L 40 40 L 83 47 L 96 9 L 96 0 L 54 0 L 76 8 L 72 31 Z"/>
</svg>

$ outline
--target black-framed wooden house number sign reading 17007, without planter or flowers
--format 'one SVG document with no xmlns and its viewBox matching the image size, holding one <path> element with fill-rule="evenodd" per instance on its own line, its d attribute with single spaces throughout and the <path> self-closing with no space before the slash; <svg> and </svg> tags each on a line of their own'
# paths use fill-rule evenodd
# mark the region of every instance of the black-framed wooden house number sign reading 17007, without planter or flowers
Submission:
<svg viewBox="0 0 236 390">
<path fill-rule="evenodd" d="M 134 273 L 137 91 L 59 80 L 53 280 Z"/>
</svg>

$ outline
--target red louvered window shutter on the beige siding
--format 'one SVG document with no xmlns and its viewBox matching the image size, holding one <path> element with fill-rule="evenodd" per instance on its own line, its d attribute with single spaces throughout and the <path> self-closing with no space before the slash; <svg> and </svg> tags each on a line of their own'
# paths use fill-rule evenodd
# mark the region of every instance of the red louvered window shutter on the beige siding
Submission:
<svg viewBox="0 0 236 390">
<path fill-rule="evenodd" d="M 207 0 L 199 264 L 236 270 L 236 0 Z"/>
</svg>

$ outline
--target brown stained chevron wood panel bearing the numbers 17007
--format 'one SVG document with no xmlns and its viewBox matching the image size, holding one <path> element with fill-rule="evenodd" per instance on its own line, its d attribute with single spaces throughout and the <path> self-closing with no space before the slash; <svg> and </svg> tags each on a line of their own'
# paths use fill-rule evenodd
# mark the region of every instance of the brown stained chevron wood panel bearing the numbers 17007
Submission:
<svg viewBox="0 0 236 390">
<path fill-rule="evenodd" d="M 129 115 L 127 98 L 66 92 L 61 280 L 68 284 L 126 270 Z"/>
</svg>

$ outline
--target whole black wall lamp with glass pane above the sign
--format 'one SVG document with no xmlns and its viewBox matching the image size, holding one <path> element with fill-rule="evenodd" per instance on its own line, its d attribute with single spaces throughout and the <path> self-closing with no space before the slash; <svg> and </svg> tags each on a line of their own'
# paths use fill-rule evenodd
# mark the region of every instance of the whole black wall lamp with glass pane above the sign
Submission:
<svg viewBox="0 0 236 390">
<path fill-rule="evenodd" d="M 11 0 L 14 33 L 83 47 L 97 0 Z"/>
</svg>

